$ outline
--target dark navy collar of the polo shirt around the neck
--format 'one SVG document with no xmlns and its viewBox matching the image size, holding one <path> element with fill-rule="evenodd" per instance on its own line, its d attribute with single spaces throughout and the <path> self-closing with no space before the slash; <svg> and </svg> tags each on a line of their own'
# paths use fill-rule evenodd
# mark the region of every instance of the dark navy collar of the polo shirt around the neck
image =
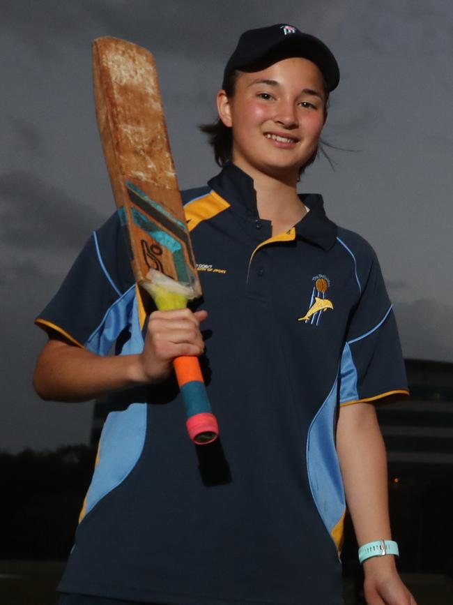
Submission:
<svg viewBox="0 0 453 605">
<path fill-rule="evenodd" d="M 258 218 L 253 180 L 234 164 L 227 164 L 220 174 L 208 181 L 213 190 L 231 204 L 231 209 L 249 219 Z M 317 193 L 299 195 L 309 212 L 295 225 L 296 237 L 329 250 L 337 239 L 337 225 L 325 215 L 323 198 Z"/>
</svg>

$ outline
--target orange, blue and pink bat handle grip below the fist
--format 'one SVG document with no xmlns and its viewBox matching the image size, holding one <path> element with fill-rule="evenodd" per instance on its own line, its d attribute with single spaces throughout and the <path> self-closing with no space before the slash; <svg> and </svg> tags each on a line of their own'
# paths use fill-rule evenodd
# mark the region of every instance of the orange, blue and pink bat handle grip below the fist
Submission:
<svg viewBox="0 0 453 605">
<path fill-rule="evenodd" d="M 197 445 L 215 441 L 219 436 L 219 425 L 210 409 L 198 357 L 176 357 L 173 365 L 184 400 L 190 439 Z"/>
</svg>

